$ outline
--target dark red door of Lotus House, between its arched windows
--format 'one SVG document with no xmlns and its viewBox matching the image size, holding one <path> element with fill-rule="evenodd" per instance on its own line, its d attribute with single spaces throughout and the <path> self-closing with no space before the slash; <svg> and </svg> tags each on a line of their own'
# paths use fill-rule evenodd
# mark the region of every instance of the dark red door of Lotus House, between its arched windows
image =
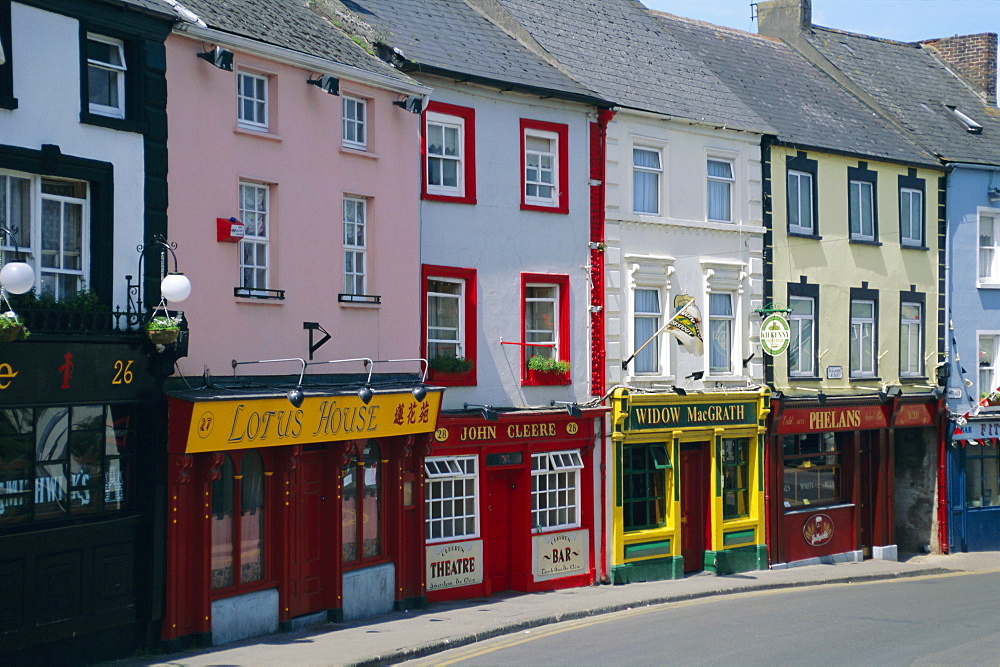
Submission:
<svg viewBox="0 0 1000 667">
<path fill-rule="evenodd" d="M 289 581 L 289 613 L 292 618 L 326 609 L 325 556 L 330 549 L 325 537 L 333 525 L 328 513 L 336 503 L 330 501 L 326 488 L 326 451 L 304 451 L 296 471 L 299 476 L 298 497 L 292 513 L 291 578 Z M 339 519 L 339 517 L 338 517 Z"/>
</svg>

